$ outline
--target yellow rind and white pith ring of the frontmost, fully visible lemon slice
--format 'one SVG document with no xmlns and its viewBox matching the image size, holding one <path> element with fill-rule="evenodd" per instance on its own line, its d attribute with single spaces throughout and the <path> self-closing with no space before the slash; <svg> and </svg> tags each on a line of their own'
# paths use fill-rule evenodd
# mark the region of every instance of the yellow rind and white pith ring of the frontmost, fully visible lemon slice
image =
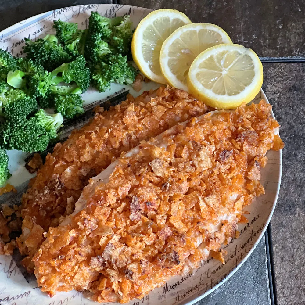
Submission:
<svg viewBox="0 0 305 305">
<path fill-rule="evenodd" d="M 213 92 L 202 85 L 202 83 L 196 77 L 196 74 L 202 70 L 199 65 L 203 63 L 210 56 L 215 56 L 220 52 L 239 52 L 240 55 L 249 55 L 253 61 L 254 65 L 254 77 L 251 83 L 246 86 L 244 90 L 235 95 L 220 95 Z M 189 72 L 188 72 L 188 89 L 192 95 L 199 99 L 202 99 L 207 105 L 217 108 L 217 109 L 234 109 L 240 105 L 247 104 L 251 102 L 263 84 L 263 66 L 257 56 L 257 54 L 242 45 L 237 44 L 222 44 L 216 45 L 203 51 L 197 58 L 193 61 Z"/>
</svg>

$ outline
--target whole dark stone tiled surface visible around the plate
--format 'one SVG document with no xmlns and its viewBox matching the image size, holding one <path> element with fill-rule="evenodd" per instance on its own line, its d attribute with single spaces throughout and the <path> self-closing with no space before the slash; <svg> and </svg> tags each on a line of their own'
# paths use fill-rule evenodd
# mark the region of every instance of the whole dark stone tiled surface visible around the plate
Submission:
<svg viewBox="0 0 305 305">
<path fill-rule="evenodd" d="M 305 2 L 303 0 L 119 0 L 120 4 L 185 12 L 193 22 L 216 23 L 235 43 L 253 48 L 264 63 L 263 89 L 282 125 L 282 185 L 271 220 L 278 305 L 305 305 Z M 38 13 L 111 0 L 0 0 L 0 31 Z M 0 37 L 1 39 L 1 37 Z M 302 63 L 303 61 L 303 63 Z M 263 239 L 242 267 L 200 305 L 273 305 Z"/>
</svg>

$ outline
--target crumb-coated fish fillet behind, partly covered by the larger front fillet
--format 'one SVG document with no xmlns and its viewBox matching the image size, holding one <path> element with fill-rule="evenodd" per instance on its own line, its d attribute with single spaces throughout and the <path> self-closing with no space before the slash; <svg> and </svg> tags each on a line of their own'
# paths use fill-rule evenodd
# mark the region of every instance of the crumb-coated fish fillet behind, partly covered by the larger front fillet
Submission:
<svg viewBox="0 0 305 305">
<path fill-rule="evenodd" d="M 97 113 L 66 142 L 58 143 L 22 198 L 22 235 L 16 242 L 20 253 L 27 256 L 23 259 L 27 271 L 33 271 L 31 260 L 44 240 L 43 232 L 73 212 L 89 178 L 121 152 L 207 111 L 203 102 L 187 92 L 160 87 L 136 99 L 129 95 L 120 105 Z"/>
</svg>

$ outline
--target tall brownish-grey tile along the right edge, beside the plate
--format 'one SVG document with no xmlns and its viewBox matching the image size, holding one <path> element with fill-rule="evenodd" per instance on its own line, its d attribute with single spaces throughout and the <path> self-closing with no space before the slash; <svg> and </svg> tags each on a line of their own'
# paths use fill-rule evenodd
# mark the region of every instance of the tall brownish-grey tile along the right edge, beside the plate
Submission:
<svg viewBox="0 0 305 305">
<path fill-rule="evenodd" d="M 285 142 L 282 184 L 271 219 L 278 305 L 304 305 L 305 63 L 263 66 L 263 89 Z"/>
</svg>

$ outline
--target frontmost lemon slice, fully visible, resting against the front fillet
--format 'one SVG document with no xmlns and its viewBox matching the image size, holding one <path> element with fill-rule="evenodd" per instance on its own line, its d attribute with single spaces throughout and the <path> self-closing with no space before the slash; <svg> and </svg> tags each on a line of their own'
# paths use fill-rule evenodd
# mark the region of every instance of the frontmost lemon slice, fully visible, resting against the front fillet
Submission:
<svg viewBox="0 0 305 305">
<path fill-rule="evenodd" d="M 263 84 L 263 66 L 242 45 L 216 45 L 203 51 L 188 71 L 189 91 L 217 109 L 234 109 L 252 101 Z"/>
</svg>

